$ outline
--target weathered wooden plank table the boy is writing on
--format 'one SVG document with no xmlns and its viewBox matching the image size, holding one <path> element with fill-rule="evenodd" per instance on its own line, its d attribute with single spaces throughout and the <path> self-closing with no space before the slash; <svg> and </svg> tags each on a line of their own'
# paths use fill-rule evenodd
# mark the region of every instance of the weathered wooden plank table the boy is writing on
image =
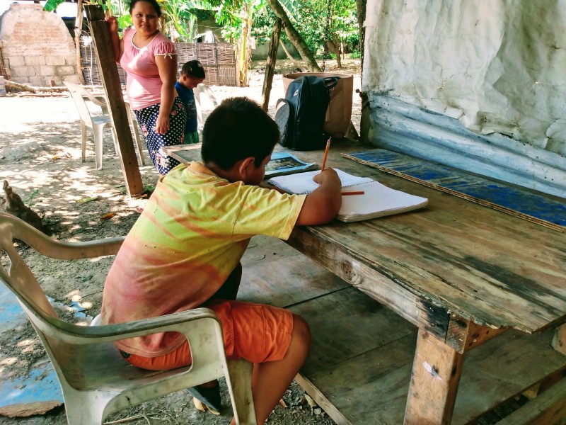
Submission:
<svg viewBox="0 0 566 425">
<path fill-rule="evenodd" d="M 532 334 L 566 322 L 565 233 L 340 157 L 362 149 L 333 142 L 328 166 L 427 197 L 428 207 L 297 227 L 287 243 L 416 325 L 405 424 L 449 424 L 465 353 L 507 329 Z"/>
</svg>

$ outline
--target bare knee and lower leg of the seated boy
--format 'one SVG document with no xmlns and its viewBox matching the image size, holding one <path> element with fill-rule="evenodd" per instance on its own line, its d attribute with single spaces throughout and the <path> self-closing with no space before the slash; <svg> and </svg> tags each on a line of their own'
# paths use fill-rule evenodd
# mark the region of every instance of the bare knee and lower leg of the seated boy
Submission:
<svg viewBox="0 0 566 425">
<path fill-rule="evenodd" d="M 263 424 L 275 409 L 308 356 L 311 331 L 302 317 L 293 314 L 293 319 L 291 344 L 284 358 L 257 363 L 253 367 L 252 392 L 258 425 Z M 235 424 L 236 421 L 232 419 L 231 425 Z"/>
</svg>

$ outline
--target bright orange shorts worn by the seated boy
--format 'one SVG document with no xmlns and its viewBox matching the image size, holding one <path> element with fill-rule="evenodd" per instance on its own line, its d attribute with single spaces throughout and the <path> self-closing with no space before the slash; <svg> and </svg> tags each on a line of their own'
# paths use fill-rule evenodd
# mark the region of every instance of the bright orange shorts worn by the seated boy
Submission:
<svg viewBox="0 0 566 425">
<path fill-rule="evenodd" d="M 245 358 L 251 363 L 281 360 L 293 333 L 293 314 L 271 305 L 214 300 L 202 307 L 214 310 L 222 323 L 227 358 Z M 189 343 L 157 357 L 129 354 L 127 361 L 142 369 L 168 370 L 190 365 Z"/>
</svg>

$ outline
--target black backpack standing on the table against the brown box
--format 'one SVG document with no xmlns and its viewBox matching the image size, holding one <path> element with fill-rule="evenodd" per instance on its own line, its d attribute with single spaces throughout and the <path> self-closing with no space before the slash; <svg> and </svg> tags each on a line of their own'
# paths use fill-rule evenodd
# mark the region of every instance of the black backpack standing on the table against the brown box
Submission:
<svg viewBox="0 0 566 425">
<path fill-rule="evenodd" d="M 284 99 L 277 101 L 275 122 L 279 127 L 279 144 L 294 150 L 323 149 L 328 135 L 323 127 L 329 89 L 337 84 L 337 77 L 320 78 L 304 75 L 287 87 Z"/>
</svg>

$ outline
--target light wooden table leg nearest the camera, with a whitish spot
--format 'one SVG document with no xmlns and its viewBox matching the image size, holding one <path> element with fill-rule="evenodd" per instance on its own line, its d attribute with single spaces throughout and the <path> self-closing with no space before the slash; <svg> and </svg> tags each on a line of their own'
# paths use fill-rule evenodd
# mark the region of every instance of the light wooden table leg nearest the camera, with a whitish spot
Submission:
<svg viewBox="0 0 566 425">
<path fill-rule="evenodd" d="M 450 424 L 463 354 L 419 329 L 405 425 Z"/>
</svg>

